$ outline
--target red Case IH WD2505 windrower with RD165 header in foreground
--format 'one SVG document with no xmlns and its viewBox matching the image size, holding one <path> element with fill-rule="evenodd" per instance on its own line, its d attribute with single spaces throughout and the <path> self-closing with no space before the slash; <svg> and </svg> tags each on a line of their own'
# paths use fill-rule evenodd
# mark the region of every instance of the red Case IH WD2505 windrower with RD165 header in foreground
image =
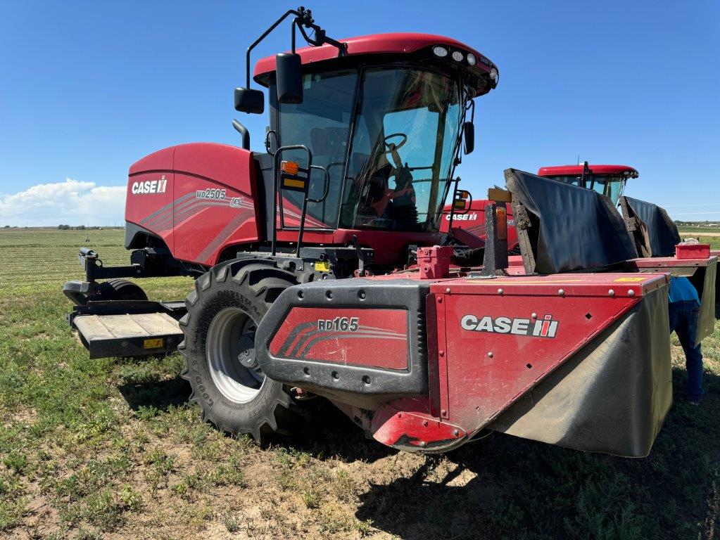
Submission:
<svg viewBox="0 0 720 540">
<path fill-rule="evenodd" d="M 658 227 L 634 216 L 631 237 L 607 198 L 517 170 L 492 193 L 484 247 L 441 234 L 463 138 L 472 150 L 465 119 L 497 85 L 495 65 L 446 37 L 338 42 L 310 12 L 291 16 L 310 47 L 255 70 L 265 153 L 235 122 L 242 148 L 181 145 L 132 165 L 132 264 L 86 251 L 86 281 L 66 284 L 91 355 L 183 339 L 204 418 L 256 438 L 315 394 L 405 450 L 494 429 L 647 454 L 672 395 L 665 272 L 696 276 L 705 301 L 716 260 L 639 259 L 634 240 Z M 249 86 L 248 62 L 235 107 L 260 113 Z M 508 202 L 526 275 L 504 271 Z M 184 306 L 119 279 L 182 274 L 197 278 Z"/>
</svg>

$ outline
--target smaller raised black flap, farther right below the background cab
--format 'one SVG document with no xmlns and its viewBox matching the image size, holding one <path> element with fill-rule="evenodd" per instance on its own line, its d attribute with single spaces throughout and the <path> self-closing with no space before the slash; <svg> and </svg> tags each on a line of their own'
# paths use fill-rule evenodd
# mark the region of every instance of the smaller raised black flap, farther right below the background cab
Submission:
<svg viewBox="0 0 720 540">
<path fill-rule="evenodd" d="M 675 255 L 675 245 L 681 242 L 680 232 L 665 209 L 657 204 L 626 196 L 621 197 L 619 203 L 639 255 Z"/>
</svg>

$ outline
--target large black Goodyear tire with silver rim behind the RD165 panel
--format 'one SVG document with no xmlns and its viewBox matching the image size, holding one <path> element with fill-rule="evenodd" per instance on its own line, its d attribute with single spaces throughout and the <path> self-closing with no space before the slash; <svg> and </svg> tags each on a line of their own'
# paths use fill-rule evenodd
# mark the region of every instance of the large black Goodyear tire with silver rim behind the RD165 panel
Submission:
<svg viewBox="0 0 720 540">
<path fill-rule="evenodd" d="M 195 282 L 180 320 L 187 362 L 182 377 L 190 401 L 220 431 L 251 434 L 261 442 L 302 419 L 289 388 L 263 375 L 255 357 L 255 331 L 271 303 L 297 282 L 274 265 L 239 261 L 212 268 Z"/>
</svg>

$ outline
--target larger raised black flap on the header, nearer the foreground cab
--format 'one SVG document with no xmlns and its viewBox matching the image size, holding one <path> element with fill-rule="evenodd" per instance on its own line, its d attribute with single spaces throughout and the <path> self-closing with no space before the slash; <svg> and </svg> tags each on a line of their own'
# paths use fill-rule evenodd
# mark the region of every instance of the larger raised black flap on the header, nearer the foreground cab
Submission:
<svg viewBox="0 0 720 540">
<path fill-rule="evenodd" d="M 606 196 L 521 170 L 505 170 L 527 273 L 610 267 L 637 257 L 620 213 Z"/>
</svg>

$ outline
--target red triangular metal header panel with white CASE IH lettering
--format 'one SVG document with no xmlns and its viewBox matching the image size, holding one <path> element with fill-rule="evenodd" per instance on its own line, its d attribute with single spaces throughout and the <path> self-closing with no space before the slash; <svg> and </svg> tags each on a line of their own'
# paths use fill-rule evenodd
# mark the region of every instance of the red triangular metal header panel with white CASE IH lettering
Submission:
<svg viewBox="0 0 720 540">
<path fill-rule="evenodd" d="M 482 428 L 638 299 L 557 288 L 536 290 L 531 302 L 519 293 L 445 294 L 449 421 Z"/>
</svg>

